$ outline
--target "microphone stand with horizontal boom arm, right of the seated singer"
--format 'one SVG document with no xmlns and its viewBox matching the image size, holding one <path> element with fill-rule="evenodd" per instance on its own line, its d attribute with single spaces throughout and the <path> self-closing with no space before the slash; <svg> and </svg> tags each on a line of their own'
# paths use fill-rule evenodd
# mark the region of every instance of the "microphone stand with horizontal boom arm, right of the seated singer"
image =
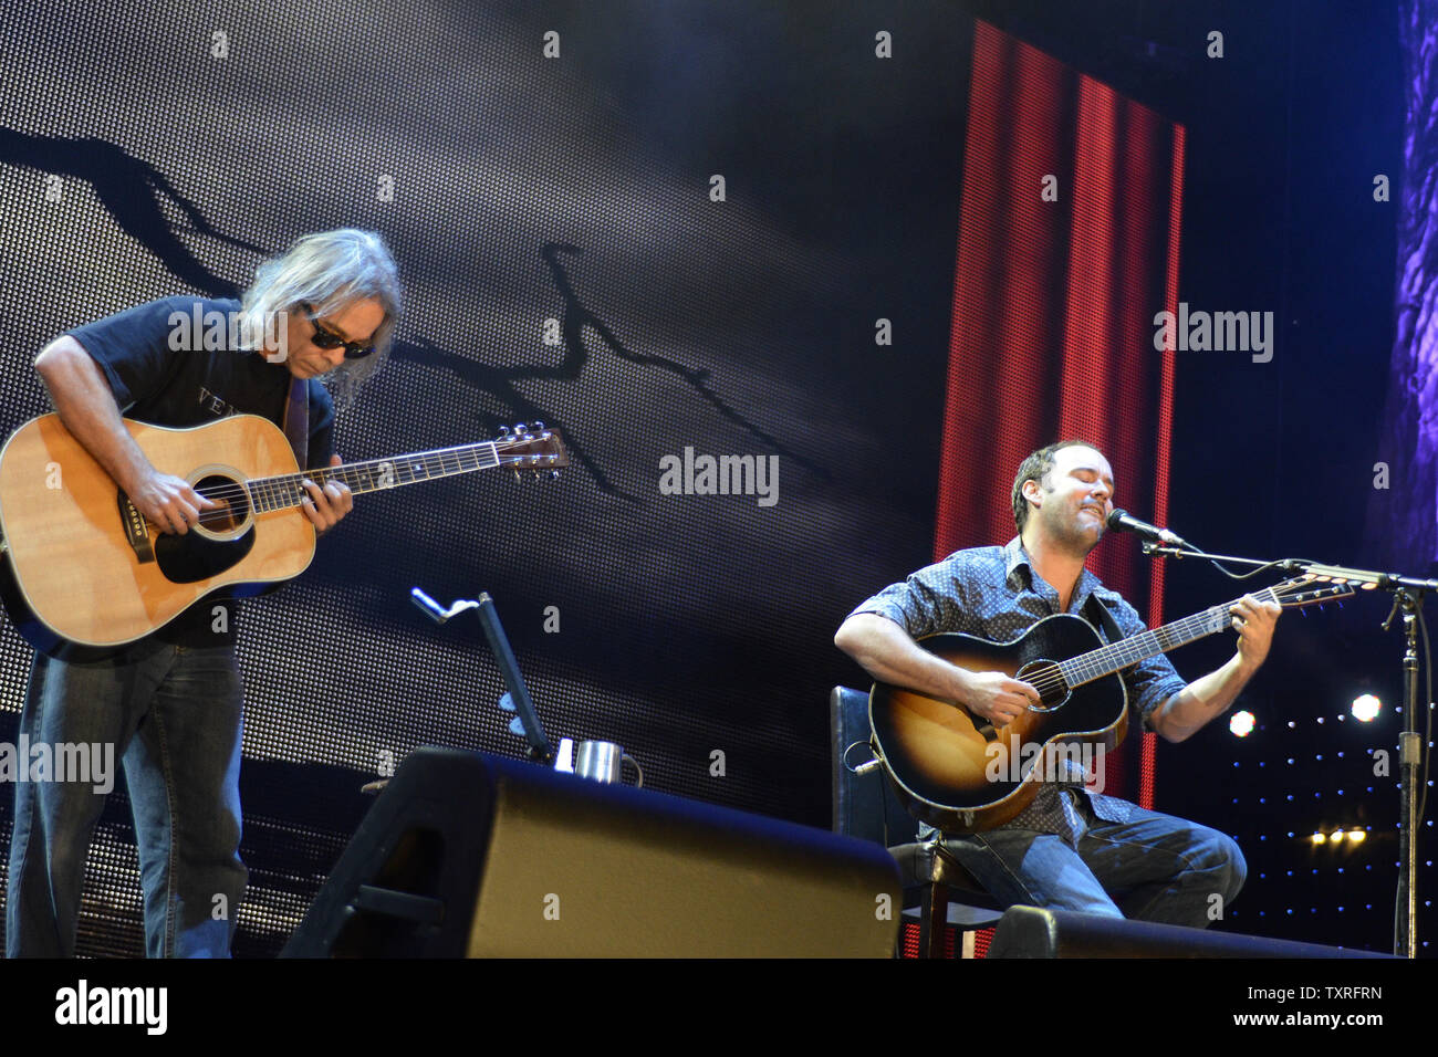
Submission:
<svg viewBox="0 0 1438 1057">
<path fill-rule="evenodd" d="M 1355 584 L 1365 591 L 1388 591 L 1393 595 L 1393 608 L 1383 621 L 1383 630 L 1393 626 L 1393 617 L 1403 617 L 1403 732 L 1398 742 L 1399 765 L 1399 823 L 1398 823 L 1398 894 L 1393 906 L 1393 953 L 1403 958 L 1418 956 L 1418 797 L 1421 792 L 1419 768 L 1424 742 L 1418 733 L 1418 627 L 1428 591 L 1438 591 L 1438 580 L 1419 580 L 1396 572 L 1375 572 L 1353 569 L 1343 565 L 1320 565 L 1316 562 L 1286 558 L 1276 562 L 1252 558 L 1205 554 L 1198 548 L 1173 546 L 1145 541 L 1143 554 L 1159 558 L 1208 558 L 1238 565 L 1280 568 L 1286 572 L 1311 575 L 1317 582 Z M 1431 660 L 1429 660 L 1431 667 Z M 1428 705 L 1432 709 L 1432 703 Z M 1431 720 L 1431 716 L 1429 716 Z"/>
</svg>

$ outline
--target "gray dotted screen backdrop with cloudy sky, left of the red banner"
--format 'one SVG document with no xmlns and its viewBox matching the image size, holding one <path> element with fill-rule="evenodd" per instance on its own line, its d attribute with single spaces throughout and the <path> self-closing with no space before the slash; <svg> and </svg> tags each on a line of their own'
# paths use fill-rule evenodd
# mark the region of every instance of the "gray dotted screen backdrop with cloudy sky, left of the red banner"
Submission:
<svg viewBox="0 0 1438 1057">
<path fill-rule="evenodd" d="M 876 58 L 879 30 L 900 58 Z M 834 630 L 932 539 L 971 19 L 40 3 L 0 36 L 7 430 L 49 410 L 32 360 L 66 328 L 234 293 L 298 234 L 360 226 L 388 239 L 406 316 L 336 449 L 536 418 L 571 444 L 554 483 L 361 496 L 302 578 L 244 607 L 237 955 L 283 945 L 362 782 L 420 745 L 523 748 L 477 623 L 436 627 L 416 585 L 495 597 L 551 738 L 621 742 L 664 792 L 828 825 L 827 690 L 858 677 Z M 778 502 L 661 495 L 686 447 L 777 456 Z M 0 738 L 29 657 L 6 624 Z M 12 811 L 4 791 L 6 836 Z M 81 952 L 142 949 L 121 785 Z"/>
</svg>

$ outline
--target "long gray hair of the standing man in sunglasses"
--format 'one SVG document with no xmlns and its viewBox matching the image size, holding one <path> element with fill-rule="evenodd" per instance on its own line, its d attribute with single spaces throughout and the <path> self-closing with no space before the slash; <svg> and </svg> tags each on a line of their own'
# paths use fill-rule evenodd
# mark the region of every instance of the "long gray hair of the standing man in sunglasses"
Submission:
<svg viewBox="0 0 1438 1057">
<path fill-rule="evenodd" d="M 240 305 L 242 334 L 270 334 L 276 314 L 299 311 L 301 302 L 325 316 L 367 298 L 384 309 L 384 321 L 374 332 L 374 352 L 345 360 L 324 375 L 335 404 L 345 407 L 390 358 L 400 318 L 400 272 L 377 233 L 357 227 L 316 232 L 296 239 L 283 256 L 262 263 Z"/>
</svg>

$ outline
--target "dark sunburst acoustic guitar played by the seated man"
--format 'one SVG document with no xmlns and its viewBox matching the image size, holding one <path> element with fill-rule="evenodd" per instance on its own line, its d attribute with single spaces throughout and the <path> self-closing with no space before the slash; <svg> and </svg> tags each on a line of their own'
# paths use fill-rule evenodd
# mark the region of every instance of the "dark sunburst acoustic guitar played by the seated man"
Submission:
<svg viewBox="0 0 1438 1057">
<path fill-rule="evenodd" d="M 1293 608 L 1350 594 L 1349 585 L 1300 577 L 1254 597 Z M 1009 643 L 952 631 L 926 636 L 919 646 L 930 653 L 968 672 L 1004 672 L 1038 690 L 1043 703 L 995 729 L 955 702 L 874 683 L 870 743 L 915 817 L 946 833 L 1002 825 L 1034 801 L 1041 782 L 1061 777 L 1064 759 L 1102 761 L 1123 741 L 1129 695 L 1119 672 L 1222 631 L 1232 605 L 1214 605 L 1109 644 L 1087 621 L 1064 613 L 1040 620 Z"/>
</svg>

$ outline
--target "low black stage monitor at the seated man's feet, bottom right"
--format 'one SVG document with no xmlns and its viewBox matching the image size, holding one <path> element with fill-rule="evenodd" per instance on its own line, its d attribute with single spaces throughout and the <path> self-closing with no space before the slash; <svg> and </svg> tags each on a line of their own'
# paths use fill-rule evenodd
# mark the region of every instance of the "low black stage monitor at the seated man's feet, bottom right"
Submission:
<svg viewBox="0 0 1438 1057">
<path fill-rule="evenodd" d="M 1288 939 L 1185 929 L 1074 910 L 1011 906 L 989 943 L 989 958 L 1392 958 Z"/>
</svg>

